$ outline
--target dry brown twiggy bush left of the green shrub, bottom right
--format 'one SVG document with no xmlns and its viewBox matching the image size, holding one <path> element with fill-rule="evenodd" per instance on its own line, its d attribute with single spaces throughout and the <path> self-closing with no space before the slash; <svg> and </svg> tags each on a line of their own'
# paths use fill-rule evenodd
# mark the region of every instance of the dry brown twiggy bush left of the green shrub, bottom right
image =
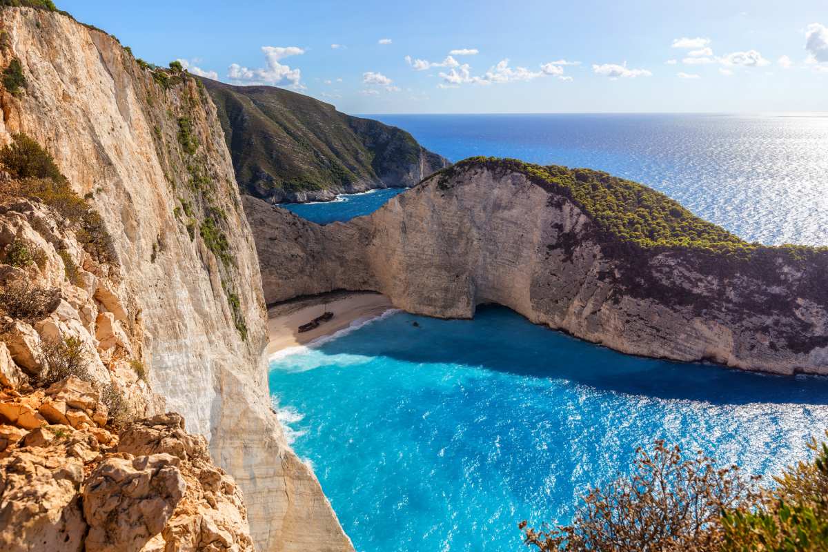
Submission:
<svg viewBox="0 0 828 552">
<path fill-rule="evenodd" d="M 716 468 L 700 453 L 683 459 L 663 441 L 636 453 L 632 473 L 592 489 L 571 525 L 536 530 L 522 521 L 524 542 L 542 552 L 720 550 L 721 512 L 755 503 L 755 478 L 742 478 L 735 466 Z"/>
</svg>

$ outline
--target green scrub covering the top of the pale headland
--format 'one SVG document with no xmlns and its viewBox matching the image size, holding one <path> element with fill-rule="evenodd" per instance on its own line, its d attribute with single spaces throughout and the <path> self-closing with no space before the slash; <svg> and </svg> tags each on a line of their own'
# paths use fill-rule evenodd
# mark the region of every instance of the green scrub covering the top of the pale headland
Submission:
<svg viewBox="0 0 828 552">
<path fill-rule="evenodd" d="M 745 242 L 724 228 L 697 217 L 661 192 L 599 170 L 470 157 L 440 170 L 427 180 L 436 177 L 438 187 L 447 190 L 455 175 L 475 168 L 495 173 L 517 172 L 544 190 L 570 199 L 595 223 L 605 242 L 620 242 L 642 250 L 683 248 L 737 258 L 783 251 L 802 260 L 814 252 L 828 251 L 826 247 L 770 247 Z"/>
</svg>

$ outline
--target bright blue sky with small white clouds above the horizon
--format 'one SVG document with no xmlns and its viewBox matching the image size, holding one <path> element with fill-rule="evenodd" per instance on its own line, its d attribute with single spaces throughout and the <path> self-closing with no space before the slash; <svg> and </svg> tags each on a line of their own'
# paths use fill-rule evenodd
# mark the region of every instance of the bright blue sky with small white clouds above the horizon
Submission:
<svg viewBox="0 0 828 552">
<path fill-rule="evenodd" d="M 56 3 L 152 63 L 346 113 L 828 111 L 826 0 Z"/>
</svg>

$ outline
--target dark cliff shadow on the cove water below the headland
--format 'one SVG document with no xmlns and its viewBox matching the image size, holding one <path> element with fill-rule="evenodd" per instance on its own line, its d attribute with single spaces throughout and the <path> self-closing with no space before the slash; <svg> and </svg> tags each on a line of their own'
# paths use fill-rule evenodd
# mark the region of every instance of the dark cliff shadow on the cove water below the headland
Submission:
<svg viewBox="0 0 828 552">
<path fill-rule="evenodd" d="M 474 320 L 396 314 L 325 343 L 319 350 L 330 355 L 385 356 L 414 364 L 459 363 L 668 401 L 828 405 L 828 377 L 774 376 L 617 353 L 532 324 L 495 305 L 479 307 Z"/>
</svg>

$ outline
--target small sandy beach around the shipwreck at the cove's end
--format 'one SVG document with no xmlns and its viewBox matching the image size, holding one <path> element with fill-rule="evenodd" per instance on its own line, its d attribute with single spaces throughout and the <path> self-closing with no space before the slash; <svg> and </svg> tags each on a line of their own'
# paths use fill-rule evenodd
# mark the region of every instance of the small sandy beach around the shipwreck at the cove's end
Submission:
<svg viewBox="0 0 828 552">
<path fill-rule="evenodd" d="M 335 334 L 348 328 L 354 320 L 373 318 L 392 308 L 385 295 L 351 291 L 335 291 L 273 305 L 267 310 L 267 354 Z M 299 333 L 299 326 L 325 311 L 334 313 L 334 318 L 323 322 L 319 328 Z"/>
</svg>

